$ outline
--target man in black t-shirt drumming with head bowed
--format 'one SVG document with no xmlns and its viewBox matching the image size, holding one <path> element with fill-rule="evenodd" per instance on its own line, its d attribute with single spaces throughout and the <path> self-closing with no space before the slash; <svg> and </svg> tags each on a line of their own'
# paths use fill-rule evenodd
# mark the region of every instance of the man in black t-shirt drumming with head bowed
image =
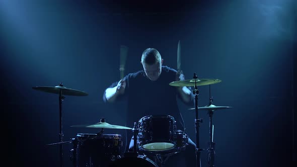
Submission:
<svg viewBox="0 0 297 167">
<path fill-rule="evenodd" d="M 177 71 L 162 65 L 163 61 L 157 49 L 147 48 L 143 51 L 140 61 L 143 69 L 127 74 L 105 90 L 105 103 L 127 100 L 126 126 L 133 127 L 134 122 L 143 116 L 171 115 L 176 121 L 177 129 L 184 130 L 178 100 L 188 106 L 194 106 L 194 95 L 191 88 L 169 85 L 172 81 L 184 80 L 185 76 L 182 70 Z M 132 139 L 129 148 L 125 148 L 127 149 L 133 151 Z M 195 150 L 196 144 L 189 137 L 185 151 L 172 155 L 166 161 L 166 166 L 196 166 Z"/>
</svg>

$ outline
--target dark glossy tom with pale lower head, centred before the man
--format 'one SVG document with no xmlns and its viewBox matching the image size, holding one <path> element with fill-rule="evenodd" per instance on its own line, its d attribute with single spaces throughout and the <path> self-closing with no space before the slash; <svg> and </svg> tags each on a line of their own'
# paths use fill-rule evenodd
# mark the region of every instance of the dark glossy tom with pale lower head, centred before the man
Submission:
<svg viewBox="0 0 297 167">
<path fill-rule="evenodd" d="M 138 121 L 139 150 L 165 151 L 175 148 L 176 121 L 170 115 L 150 115 Z"/>
</svg>

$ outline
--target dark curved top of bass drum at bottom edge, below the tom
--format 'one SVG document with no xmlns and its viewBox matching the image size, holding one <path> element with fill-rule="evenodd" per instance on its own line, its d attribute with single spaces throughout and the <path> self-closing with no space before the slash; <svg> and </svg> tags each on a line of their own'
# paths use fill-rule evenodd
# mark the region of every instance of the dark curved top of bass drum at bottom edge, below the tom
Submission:
<svg viewBox="0 0 297 167">
<path fill-rule="evenodd" d="M 129 167 L 158 167 L 158 165 L 146 157 L 146 155 L 121 157 L 113 161 L 109 167 L 129 166 Z"/>
</svg>

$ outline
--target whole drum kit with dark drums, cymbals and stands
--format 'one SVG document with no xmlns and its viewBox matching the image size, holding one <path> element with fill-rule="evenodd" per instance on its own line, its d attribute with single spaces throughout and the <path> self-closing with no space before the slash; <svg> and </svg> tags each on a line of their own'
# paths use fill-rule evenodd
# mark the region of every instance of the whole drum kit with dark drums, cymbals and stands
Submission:
<svg viewBox="0 0 297 167">
<path fill-rule="evenodd" d="M 173 87 L 194 87 L 193 94 L 195 95 L 195 108 L 188 110 L 195 110 L 195 129 L 196 129 L 196 164 L 201 166 L 200 152 L 203 149 L 199 145 L 199 124 L 202 119 L 198 116 L 198 110 L 205 110 L 209 115 L 209 147 L 207 148 L 208 166 L 214 166 L 214 146 L 213 142 L 213 124 L 212 116 L 215 110 L 228 109 L 232 107 L 215 106 L 212 104 L 213 98 L 210 96 L 210 85 L 220 82 L 219 79 L 201 79 L 197 78 L 194 73 L 193 79 L 180 80 L 170 82 Z M 209 104 L 204 107 L 198 107 L 198 94 L 197 86 L 209 85 Z M 81 128 L 98 128 L 101 129 L 98 133 L 78 133 L 75 138 L 70 141 L 63 141 L 62 131 L 62 101 L 64 95 L 68 96 L 88 96 L 88 93 L 69 89 L 60 83 L 55 87 L 33 87 L 34 90 L 54 93 L 59 95 L 59 142 L 47 145 L 60 145 L 60 166 L 63 166 L 63 144 L 72 143 L 73 148 L 69 150 L 70 160 L 73 166 L 155 166 L 158 167 L 156 160 L 148 158 L 146 154 L 139 154 L 138 152 L 147 152 L 147 154 L 155 153 L 157 159 L 161 161 L 162 165 L 167 160 L 163 160 L 162 156 L 165 153 L 167 158 L 175 153 L 185 150 L 188 142 L 188 136 L 184 130 L 176 128 L 176 121 L 170 115 L 148 115 L 144 116 L 134 122 L 134 127 L 125 127 L 120 125 L 112 125 L 105 122 L 104 118 L 100 122 L 88 125 L 73 125 L 71 127 Z M 162 126 L 159 126 L 162 124 Z M 125 151 L 121 155 L 123 147 L 122 135 L 120 134 L 106 134 L 104 129 L 123 129 L 131 130 L 133 133 L 134 147 L 133 151 Z M 153 133 L 154 132 L 154 133 Z M 170 152 L 170 153 L 168 153 Z M 161 160 L 160 160 L 161 159 Z"/>
</svg>

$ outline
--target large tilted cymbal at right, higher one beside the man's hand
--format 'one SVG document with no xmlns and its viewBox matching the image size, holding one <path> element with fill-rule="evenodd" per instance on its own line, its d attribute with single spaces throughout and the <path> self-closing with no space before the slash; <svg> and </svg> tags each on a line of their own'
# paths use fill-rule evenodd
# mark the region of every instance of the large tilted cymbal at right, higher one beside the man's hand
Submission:
<svg viewBox="0 0 297 167">
<path fill-rule="evenodd" d="M 194 87 L 195 81 L 196 81 L 196 86 L 204 86 L 204 85 L 216 84 L 216 83 L 220 82 L 221 80 L 197 78 L 197 79 L 173 81 L 173 82 L 170 82 L 169 85 L 174 86 L 174 87 Z"/>
</svg>

